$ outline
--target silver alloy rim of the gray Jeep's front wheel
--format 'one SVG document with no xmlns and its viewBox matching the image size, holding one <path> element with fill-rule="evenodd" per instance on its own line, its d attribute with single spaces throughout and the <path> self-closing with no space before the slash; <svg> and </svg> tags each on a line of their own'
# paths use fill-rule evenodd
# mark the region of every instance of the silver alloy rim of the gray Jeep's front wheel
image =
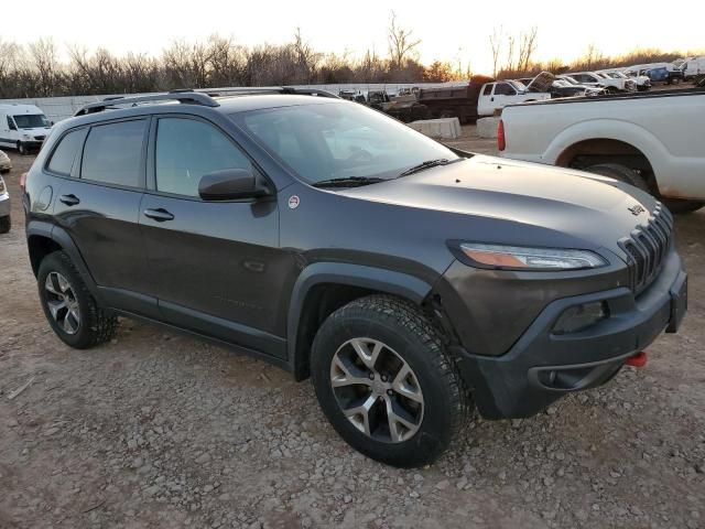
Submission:
<svg viewBox="0 0 705 529">
<path fill-rule="evenodd" d="M 409 364 L 371 338 L 343 344 L 330 363 L 330 386 L 340 410 L 369 438 L 401 443 L 421 427 L 423 392 Z"/>
</svg>

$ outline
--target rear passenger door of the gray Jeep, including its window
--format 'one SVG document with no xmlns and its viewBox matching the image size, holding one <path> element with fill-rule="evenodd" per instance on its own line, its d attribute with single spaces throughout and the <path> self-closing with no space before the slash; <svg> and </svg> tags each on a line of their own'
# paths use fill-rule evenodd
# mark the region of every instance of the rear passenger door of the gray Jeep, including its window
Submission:
<svg viewBox="0 0 705 529">
<path fill-rule="evenodd" d="M 63 145 L 80 140 L 83 149 L 72 169 L 75 177 L 63 175 L 54 215 L 110 305 L 155 315 L 156 301 L 142 295 L 149 279 L 138 225 L 149 122 L 149 118 L 111 121 L 66 134 L 47 169 L 62 175 L 62 165 L 54 160 L 61 158 Z"/>
</svg>

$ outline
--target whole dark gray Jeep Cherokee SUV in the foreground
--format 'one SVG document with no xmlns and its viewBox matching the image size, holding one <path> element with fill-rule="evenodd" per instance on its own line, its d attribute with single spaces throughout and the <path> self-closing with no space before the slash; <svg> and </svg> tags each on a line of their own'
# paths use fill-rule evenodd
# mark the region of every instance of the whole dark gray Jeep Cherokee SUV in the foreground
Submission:
<svg viewBox="0 0 705 529">
<path fill-rule="evenodd" d="M 595 174 L 446 148 L 325 93 L 93 104 L 23 196 L 66 344 L 117 315 L 313 379 L 376 460 L 435 460 L 476 407 L 535 414 L 601 385 L 686 309 L 671 214 Z"/>
</svg>

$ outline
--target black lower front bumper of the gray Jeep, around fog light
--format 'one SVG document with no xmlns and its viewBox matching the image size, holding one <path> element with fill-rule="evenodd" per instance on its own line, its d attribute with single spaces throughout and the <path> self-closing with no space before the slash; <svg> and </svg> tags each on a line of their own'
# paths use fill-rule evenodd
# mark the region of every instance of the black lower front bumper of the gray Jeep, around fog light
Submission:
<svg viewBox="0 0 705 529">
<path fill-rule="evenodd" d="M 605 384 L 661 332 L 675 332 L 687 304 L 687 277 L 672 251 L 661 274 L 639 296 L 627 288 L 564 298 L 550 303 L 513 347 L 481 356 L 456 347 L 465 380 L 487 419 L 531 417 L 563 395 Z M 552 328 L 567 307 L 605 301 L 610 316 L 573 334 Z"/>
</svg>

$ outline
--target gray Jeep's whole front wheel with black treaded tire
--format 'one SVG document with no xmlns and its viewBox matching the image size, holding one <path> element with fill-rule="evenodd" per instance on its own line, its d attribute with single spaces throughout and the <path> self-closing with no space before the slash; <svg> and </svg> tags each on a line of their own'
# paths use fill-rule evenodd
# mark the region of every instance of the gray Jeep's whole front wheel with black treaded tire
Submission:
<svg viewBox="0 0 705 529">
<path fill-rule="evenodd" d="M 399 467 L 436 460 L 473 408 L 438 332 L 413 304 L 388 295 L 338 309 L 313 343 L 316 397 L 338 434 Z"/>
</svg>

